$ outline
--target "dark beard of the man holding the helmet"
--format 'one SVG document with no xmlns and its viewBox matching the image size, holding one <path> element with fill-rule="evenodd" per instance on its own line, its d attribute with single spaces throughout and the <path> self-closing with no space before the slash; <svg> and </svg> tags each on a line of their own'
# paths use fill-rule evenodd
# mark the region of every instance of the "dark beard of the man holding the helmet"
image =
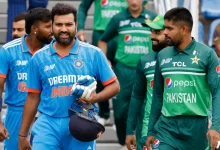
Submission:
<svg viewBox="0 0 220 150">
<path fill-rule="evenodd" d="M 61 36 L 62 34 L 67 35 L 68 38 L 61 38 L 60 36 Z M 70 45 L 70 44 L 72 43 L 74 37 L 75 37 L 75 32 L 72 32 L 72 33 L 70 33 L 70 32 L 60 32 L 60 33 L 58 33 L 58 34 L 55 34 L 55 33 L 54 33 L 54 38 L 55 38 L 56 41 L 57 41 L 59 44 L 61 44 L 61 45 L 66 45 L 66 46 L 67 46 L 67 45 Z"/>
</svg>

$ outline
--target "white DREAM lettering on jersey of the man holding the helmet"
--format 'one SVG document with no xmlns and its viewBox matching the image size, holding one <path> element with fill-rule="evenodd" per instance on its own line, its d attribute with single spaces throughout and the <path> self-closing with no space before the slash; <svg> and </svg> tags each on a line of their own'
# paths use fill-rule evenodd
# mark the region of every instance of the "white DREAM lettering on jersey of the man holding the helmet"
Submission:
<svg viewBox="0 0 220 150">
<path fill-rule="evenodd" d="M 50 86 L 63 83 L 75 83 L 81 76 L 83 75 L 60 75 L 48 78 L 48 81 Z"/>
</svg>

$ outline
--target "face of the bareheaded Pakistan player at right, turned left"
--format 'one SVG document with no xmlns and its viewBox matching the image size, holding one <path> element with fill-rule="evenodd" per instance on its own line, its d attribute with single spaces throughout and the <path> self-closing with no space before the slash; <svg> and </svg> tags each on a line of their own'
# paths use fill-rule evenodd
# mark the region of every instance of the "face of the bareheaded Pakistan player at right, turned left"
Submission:
<svg viewBox="0 0 220 150">
<path fill-rule="evenodd" d="M 168 46 L 178 47 L 183 42 L 182 27 L 180 25 L 173 24 L 173 21 L 165 20 L 164 22 L 164 34 Z"/>
</svg>

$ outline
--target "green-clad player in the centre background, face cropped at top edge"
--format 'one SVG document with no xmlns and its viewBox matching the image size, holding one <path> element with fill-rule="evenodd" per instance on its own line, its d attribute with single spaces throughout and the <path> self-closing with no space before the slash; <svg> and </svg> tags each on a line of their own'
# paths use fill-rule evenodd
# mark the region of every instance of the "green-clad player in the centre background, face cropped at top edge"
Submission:
<svg viewBox="0 0 220 150">
<path fill-rule="evenodd" d="M 150 28 L 144 20 L 153 20 L 155 13 L 143 8 L 143 0 L 127 0 L 128 9 L 115 15 L 109 22 L 98 46 L 106 54 L 107 42 L 118 36 L 114 71 L 121 92 L 113 99 L 114 119 L 119 143 L 125 145 L 126 122 L 138 60 L 152 51 Z"/>
</svg>

